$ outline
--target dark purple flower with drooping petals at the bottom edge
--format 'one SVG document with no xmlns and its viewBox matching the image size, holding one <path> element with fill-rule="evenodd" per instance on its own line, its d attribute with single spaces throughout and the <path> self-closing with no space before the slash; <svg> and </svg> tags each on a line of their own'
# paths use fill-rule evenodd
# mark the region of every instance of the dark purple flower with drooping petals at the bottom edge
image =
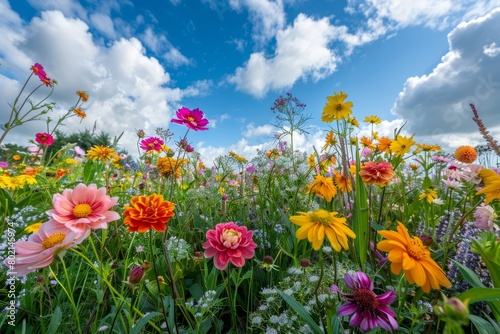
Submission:
<svg viewBox="0 0 500 334">
<path fill-rule="evenodd" d="M 373 292 L 373 282 L 362 271 L 344 275 L 347 286 L 353 293 L 342 293 L 336 285 L 331 290 L 339 292 L 347 298 L 347 303 L 340 306 L 337 311 L 339 316 L 353 315 L 350 326 L 359 327 L 363 332 L 368 332 L 380 326 L 392 333 L 398 329 L 398 323 L 394 318 L 396 313 L 387 305 L 392 303 L 397 294 L 395 291 L 387 291 L 380 296 Z"/>
</svg>

